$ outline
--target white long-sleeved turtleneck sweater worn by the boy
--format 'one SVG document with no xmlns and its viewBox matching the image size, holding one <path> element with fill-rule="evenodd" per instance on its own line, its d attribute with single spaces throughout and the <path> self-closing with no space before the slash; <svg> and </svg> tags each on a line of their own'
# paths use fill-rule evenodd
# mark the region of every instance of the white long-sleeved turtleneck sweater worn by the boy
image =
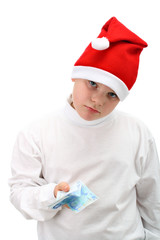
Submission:
<svg viewBox="0 0 160 240">
<path fill-rule="evenodd" d="M 83 120 L 67 102 L 21 131 L 11 202 L 38 221 L 39 240 L 160 239 L 160 166 L 141 121 L 118 111 Z M 49 209 L 54 187 L 82 180 L 99 199 L 76 214 Z"/>
</svg>

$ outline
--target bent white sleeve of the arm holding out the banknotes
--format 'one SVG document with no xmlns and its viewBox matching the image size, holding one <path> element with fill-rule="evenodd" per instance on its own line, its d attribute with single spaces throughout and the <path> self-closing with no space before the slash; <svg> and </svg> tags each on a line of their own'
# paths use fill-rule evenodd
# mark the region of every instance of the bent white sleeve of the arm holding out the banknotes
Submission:
<svg viewBox="0 0 160 240">
<path fill-rule="evenodd" d="M 43 154 L 38 144 L 37 133 L 19 133 L 11 163 L 10 200 L 26 218 L 45 221 L 58 212 L 48 208 L 55 201 L 56 184 L 43 178 Z"/>
</svg>

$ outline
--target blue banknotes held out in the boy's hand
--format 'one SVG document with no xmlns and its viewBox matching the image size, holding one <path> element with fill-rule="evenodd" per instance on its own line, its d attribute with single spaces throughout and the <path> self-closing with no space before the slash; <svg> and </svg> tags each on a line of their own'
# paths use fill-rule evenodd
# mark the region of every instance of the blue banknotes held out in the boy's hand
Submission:
<svg viewBox="0 0 160 240">
<path fill-rule="evenodd" d="M 69 192 L 58 191 L 57 200 L 49 207 L 57 209 L 65 204 L 78 213 L 99 198 L 81 181 L 70 186 Z"/>
</svg>

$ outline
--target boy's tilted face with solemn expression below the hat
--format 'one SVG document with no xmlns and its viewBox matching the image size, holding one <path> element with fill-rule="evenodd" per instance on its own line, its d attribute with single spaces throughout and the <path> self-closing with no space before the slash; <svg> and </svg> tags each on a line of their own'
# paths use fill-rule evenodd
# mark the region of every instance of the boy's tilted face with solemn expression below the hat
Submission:
<svg viewBox="0 0 160 240">
<path fill-rule="evenodd" d="M 72 79 L 73 107 L 85 120 L 107 116 L 119 103 L 116 93 L 109 87 L 86 79 Z"/>
</svg>

